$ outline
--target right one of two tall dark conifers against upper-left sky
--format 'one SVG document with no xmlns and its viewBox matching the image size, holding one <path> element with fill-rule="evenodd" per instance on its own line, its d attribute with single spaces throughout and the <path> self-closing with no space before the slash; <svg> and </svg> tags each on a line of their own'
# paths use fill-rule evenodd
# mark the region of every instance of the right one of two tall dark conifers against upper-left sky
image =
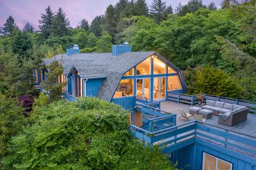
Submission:
<svg viewBox="0 0 256 170">
<path fill-rule="evenodd" d="M 68 21 L 67 15 L 64 13 L 62 8 L 59 8 L 52 20 L 51 35 L 58 37 L 65 36 L 68 34 L 69 26 L 70 22 Z"/>
</svg>

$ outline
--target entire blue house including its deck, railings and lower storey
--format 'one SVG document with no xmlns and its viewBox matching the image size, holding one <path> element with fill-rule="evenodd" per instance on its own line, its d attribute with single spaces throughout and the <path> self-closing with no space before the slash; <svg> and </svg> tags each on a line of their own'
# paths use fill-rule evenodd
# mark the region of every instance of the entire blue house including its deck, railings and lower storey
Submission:
<svg viewBox="0 0 256 170">
<path fill-rule="evenodd" d="M 197 95 L 186 95 L 180 69 L 156 52 L 131 52 L 129 45 L 114 45 L 112 53 L 80 53 L 78 46 L 44 60 L 60 61 L 67 82 L 63 95 L 70 101 L 92 96 L 114 102 L 131 112 L 130 131 L 148 145 L 159 145 L 170 160 L 183 169 L 256 170 L 256 115 L 235 126 L 218 123 L 213 115 L 206 122 L 184 122 L 179 108 L 197 104 Z M 47 79 L 35 71 L 38 84 Z M 205 99 L 250 108 L 256 102 L 205 95 Z"/>
</svg>

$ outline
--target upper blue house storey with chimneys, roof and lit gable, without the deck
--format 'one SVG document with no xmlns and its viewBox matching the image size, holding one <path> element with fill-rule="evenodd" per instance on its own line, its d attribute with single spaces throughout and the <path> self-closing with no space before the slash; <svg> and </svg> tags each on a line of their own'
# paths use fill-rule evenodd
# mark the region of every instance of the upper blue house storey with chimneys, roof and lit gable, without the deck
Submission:
<svg viewBox="0 0 256 170">
<path fill-rule="evenodd" d="M 64 95 L 70 100 L 92 96 L 133 109 L 134 96 L 163 101 L 167 91 L 186 91 L 180 69 L 156 52 L 131 52 L 129 45 L 113 45 L 112 53 L 80 53 L 73 47 L 44 63 L 53 60 L 64 66 L 59 82 L 67 82 Z"/>
</svg>

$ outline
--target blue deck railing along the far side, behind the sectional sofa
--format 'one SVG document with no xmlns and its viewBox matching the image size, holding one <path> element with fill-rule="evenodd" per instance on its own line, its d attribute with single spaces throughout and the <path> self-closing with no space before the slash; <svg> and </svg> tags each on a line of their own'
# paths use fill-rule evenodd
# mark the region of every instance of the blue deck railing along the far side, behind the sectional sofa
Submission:
<svg viewBox="0 0 256 170">
<path fill-rule="evenodd" d="M 215 100 L 215 101 L 223 101 L 228 102 L 231 104 L 237 104 L 241 106 L 249 107 L 249 112 L 256 114 L 256 102 L 253 101 L 246 101 L 242 99 L 234 99 L 234 98 L 226 98 L 223 96 L 214 96 L 214 95 L 208 95 L 208 94 L 202 94 L 204 95 L 204 102 L 205 99 Z M 191 106 L 198 103 L 198 96 L 199 95 L 187 95 L 183 93 L 176 93 L 173 91 L 167 91 L 167 99 L 170 101 L 175 102 L 183 102 L 186 104 L 190 104 Z"/>
</svg>

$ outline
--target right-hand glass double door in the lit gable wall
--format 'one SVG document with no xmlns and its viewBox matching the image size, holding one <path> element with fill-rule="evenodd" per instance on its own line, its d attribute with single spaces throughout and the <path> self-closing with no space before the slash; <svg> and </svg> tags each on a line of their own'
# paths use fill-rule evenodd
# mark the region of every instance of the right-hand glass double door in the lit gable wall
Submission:
<svg viewBox="0 0 256 170">
<path fill-rule="evenodd" d="M 166 97 L 166 78 L 155 77 L 154 78 L 154 99 L 162 100 Z"/>
</svg>

